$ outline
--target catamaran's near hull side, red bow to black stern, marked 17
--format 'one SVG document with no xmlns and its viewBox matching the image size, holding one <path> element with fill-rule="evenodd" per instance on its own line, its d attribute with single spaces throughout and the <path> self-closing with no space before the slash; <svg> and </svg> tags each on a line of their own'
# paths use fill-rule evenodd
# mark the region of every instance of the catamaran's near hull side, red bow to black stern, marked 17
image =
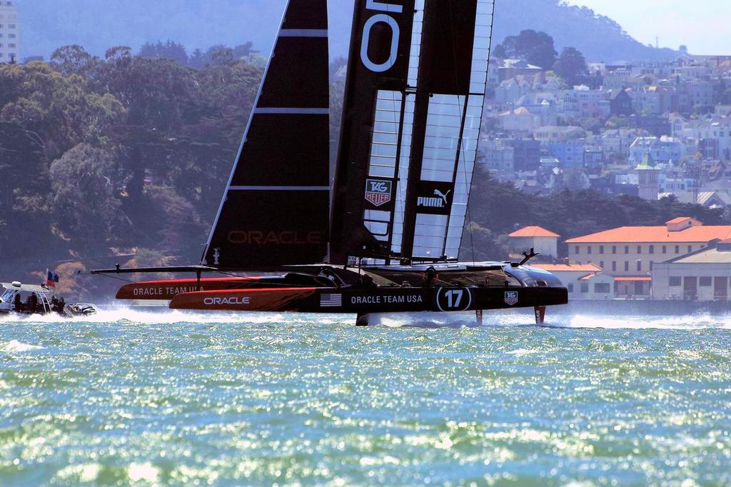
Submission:
<svg viewBox="0 0 731 487">
<path fill-rule="evenodd" d="M 235 312 L 465 312 L 568 303 L 563 287 L 291 288 L 188 292 L 172 309 Z"/>
</svg>

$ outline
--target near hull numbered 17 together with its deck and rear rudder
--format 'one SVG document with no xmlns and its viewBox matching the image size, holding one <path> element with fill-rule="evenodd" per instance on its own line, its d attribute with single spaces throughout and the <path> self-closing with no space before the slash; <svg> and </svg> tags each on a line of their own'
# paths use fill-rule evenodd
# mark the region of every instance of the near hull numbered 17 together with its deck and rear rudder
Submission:
<svg viewBox="0 0 731 487">
<path fill-rule="evenodd" d="M 427 279 L 429 271 L 433 279 Z M 568 303 L 556 277 L 505 263 L 385 266 L 360 270 L 314 269 L 333 285 L 188 292 L 173 309 L 236 312 L 372 313 L 467 312 L 534 308 L 542 322 L 546 306 Z M 336 284 L 338 282 L 339 284 Z"/>
</svg>

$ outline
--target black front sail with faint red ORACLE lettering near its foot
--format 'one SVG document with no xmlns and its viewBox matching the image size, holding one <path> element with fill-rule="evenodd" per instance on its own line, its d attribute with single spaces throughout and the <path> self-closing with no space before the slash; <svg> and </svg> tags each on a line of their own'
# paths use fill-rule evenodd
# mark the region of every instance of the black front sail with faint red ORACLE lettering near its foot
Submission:
<svg viewBox="0 0 731 487">
<path fill-rule="evenodd" d="M 289 0 L 203 263 L 321 263 L 330 208 L 327 0 Z"/>
</svg>

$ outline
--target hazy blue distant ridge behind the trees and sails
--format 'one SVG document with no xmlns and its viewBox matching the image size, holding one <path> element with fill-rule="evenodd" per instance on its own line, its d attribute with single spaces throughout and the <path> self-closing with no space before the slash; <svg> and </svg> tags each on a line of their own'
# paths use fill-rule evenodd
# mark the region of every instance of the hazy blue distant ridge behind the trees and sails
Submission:
<svg viewBox="0 0 731 487">
<path fill-rule="evenodd" d="M 560 50 L 575 47 L 590 61 L 671 59 L 626 34 L 618 23 L 561 0 L 496 0 L 498 42 L 523 29 L 545 31 Z M 102 56 L 107 48 L 172 39 L 191 52 L 251 41 L 268 52 L 285 0 L 19 0 L 21 57 L 44 56 L 62 45 L 83 45 Z M 330 1 L 333 57 L 348 50 L 353 0 Z"/>
</svg>

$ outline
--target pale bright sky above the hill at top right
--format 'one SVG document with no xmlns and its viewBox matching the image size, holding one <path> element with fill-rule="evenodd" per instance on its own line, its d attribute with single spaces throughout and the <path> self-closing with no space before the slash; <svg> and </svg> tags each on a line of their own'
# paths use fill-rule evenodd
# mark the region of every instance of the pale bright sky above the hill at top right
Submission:
<svg viewBox="0 0 731 487">
<path fill-rule="evenodd" d="M 613 18 L 645 44 L 694 54 L 731 54 L 731 0 L 567 0 Z"/>
</svg>

